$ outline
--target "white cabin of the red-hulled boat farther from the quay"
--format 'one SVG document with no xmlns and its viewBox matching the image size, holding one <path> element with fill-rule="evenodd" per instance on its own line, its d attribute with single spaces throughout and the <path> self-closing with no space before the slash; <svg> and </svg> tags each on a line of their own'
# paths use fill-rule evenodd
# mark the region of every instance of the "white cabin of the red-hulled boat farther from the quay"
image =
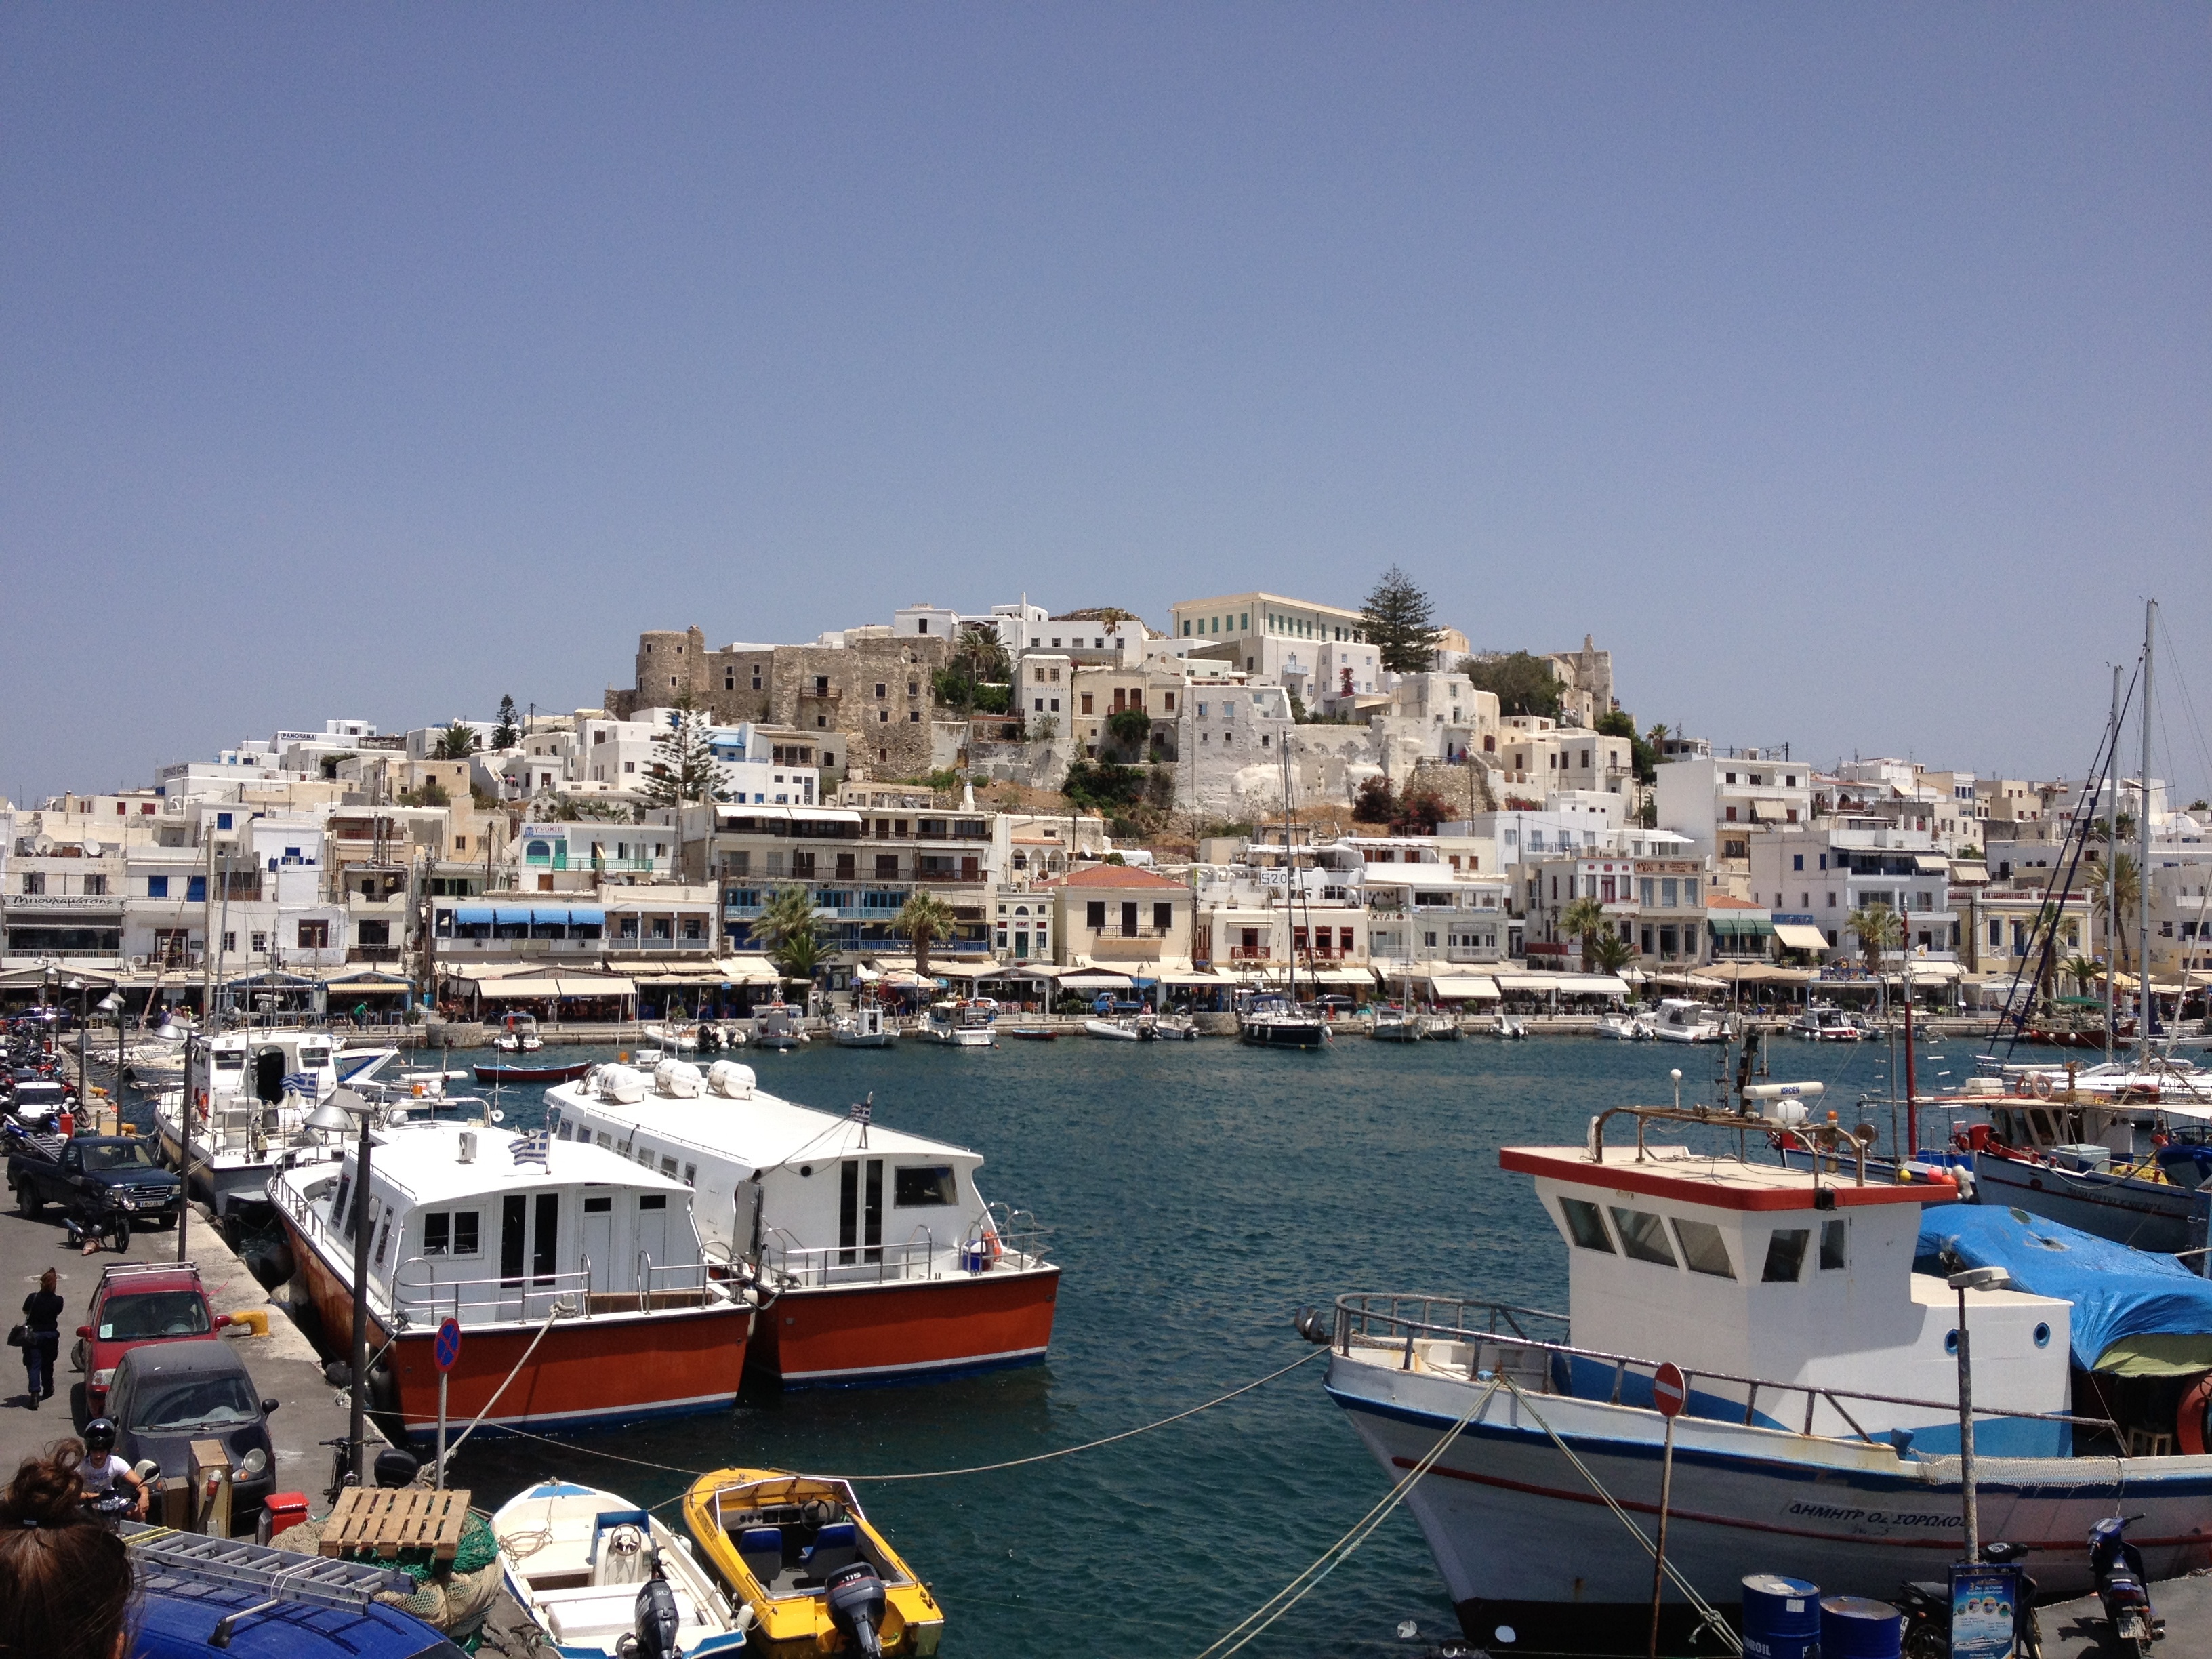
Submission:
<svg viewBox="0 0 2212 1659">
<path fill-rule="evenodd" d="M 697 1188 L 714 1256 L 750 1256 L 785 1287 L 1018 1265 L 987 1243 L 980 1152 L 794 1106 L 728 1060 L 703 1082 L 697 1066 L 661 1066 L 639 1084 L 602 1066 L 546 1091 L 555 1146 L 588 1141 Z"/>
</svg>

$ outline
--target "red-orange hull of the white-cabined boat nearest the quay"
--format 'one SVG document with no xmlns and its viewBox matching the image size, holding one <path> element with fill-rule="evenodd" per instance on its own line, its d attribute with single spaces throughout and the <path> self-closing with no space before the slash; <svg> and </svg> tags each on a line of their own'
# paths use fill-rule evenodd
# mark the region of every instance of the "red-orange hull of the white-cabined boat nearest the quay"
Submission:
<svg viewBox="0 0 2212 1659">
<path fill-rule="evenodd" d="M 299 1237 L 290 1219 L 292 1259 L 307 1272 L 307 1292 L 325 1338 L 345 1340 L 354 1327 L 354 1287 Z M 487 1405 L 538 1336 L 542 1321 L 498 1329 L 462 1327 L 460 1363 L 447 1383 L 447 1420 L 465 1425 Z M 575 1422 L 582 1418 L 646 1418 L 666 1409 L 732 1405 L 745 1369 L 752 1310 L 745 1305 L 697 1314 L 595 1314 L 560 1318 L 538 1343 L 529 1367 L 507 1385 L 491 1422 Z M 369 1314 L 369 1352 L 389 1332 Z M 403 1334 L 385 1365 L 398 1383 L 398 1411 L 411 1433 L 438 1427 L 436 1327 Z M 701 1407 L 706 1402 L 706 1407 Z"/>
</svg>

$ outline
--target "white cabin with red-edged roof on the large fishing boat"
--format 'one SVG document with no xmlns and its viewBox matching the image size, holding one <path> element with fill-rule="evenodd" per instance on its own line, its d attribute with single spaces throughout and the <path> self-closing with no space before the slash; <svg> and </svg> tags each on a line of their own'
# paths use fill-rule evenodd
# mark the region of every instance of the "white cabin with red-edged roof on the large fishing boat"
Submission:
<svg viewBox="0 0 2212 1659">
<path fill-rule="evenodd" d="M 1958 1451 L 1958 1292 L 1913 1272 L 1920 1208 L 1949 1201 L 1949 1183 L 1856 1186 L 1849 1164 L 1814 1175 L 1686 1146 L 1606 1146 L 1601 1164 L 1586 1148 L 1509 1146 L 1500 1164 L 1535 1177 L 1566 1241 L 1575 1347 L 1692 1374 L 1953 1402 L 1931 1411 L 1851 1400 L 1845 1420 L 1820 1400 L 1812 1427 L 1909 1429 L 1920 1451 Z M 2070 1312 L 2048 1296 L 1971 1292 L 1975 1405 L 2068 1411 Z M 1577 1360 L 1577 1383 L 1588 1365 Z M 1705 1396 L 1732 1411 L 1759 1407 L 1741 1385 L 1694 1376 L 1692 1411 Z M 1770 1409 L 1792 1418 L 1772 1427 L 1805 1427 L 1803 1394 Z M 2066 1455 L 2070 1440 L 2066 1425 L 1984 1418 L 1975 1444 Z"/>
</svg>

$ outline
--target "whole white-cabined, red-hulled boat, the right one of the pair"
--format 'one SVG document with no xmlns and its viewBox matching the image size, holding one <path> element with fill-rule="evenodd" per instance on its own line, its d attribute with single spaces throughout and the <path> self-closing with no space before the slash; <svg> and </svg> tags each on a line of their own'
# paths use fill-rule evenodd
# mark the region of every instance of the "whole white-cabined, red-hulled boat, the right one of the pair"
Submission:
<svg viewBox="0 0 2212 1659">
<path fill-rule="evenodd" d="M 754 1369 L 823 1387 L 1044 1356 L 1060 1267 L 1035 1217 L 984 1203 L 978 1152 L 887 1128 L 874 1102 L 779 1099 L 734 1060 L 703 1088 L 686 1071 L 602 1066 L 546 1091 L 546 1124 L 555 1150 L 591 1141 L 681 1172 L 708 1259 L 772 1298 Z"/>
</svg>

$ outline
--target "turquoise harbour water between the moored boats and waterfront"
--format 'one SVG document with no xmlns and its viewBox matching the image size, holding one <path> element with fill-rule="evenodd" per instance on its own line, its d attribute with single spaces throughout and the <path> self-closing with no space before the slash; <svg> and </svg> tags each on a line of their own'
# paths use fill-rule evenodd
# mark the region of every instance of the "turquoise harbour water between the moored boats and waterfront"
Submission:
<svg viewBox="0 0 2212 1659">
<path fill-rule="evenodd" d="M 546 1051 L 582 1057 L 584 1051 Z M 469 1055 L 471 1060 L 476 1055 Z M 489 1057 L 489 1055 L 484 1055 Z M 460 1057 L 456 1057 L 460 1060 Z M 1152 1422 L 1312 1354 L 1298 1305 L 1347 1290 L 1471 1294 L 1564 1312 L 1564 1252 L 1517 1141 L 1579 1144 L 1590 1113 L 1710 1099 L 1719 1051 L 1599 1040 L 1376 1044 L 1321 1055 L 1234 1042 L 1062 1037 L 995 1051 L 748 1053 L 761 1086 L 984 1152 L 984 1197 L 1055 1228 L 1053 1352 L 978 1378 L 792 1394 L 728 1418 L 471 1442 L 453 1484 L 495 1506 L 560 1473 L 653 1504 L 677 1469 L 900 1473 L 1024 1458 Z M 1874 1086 L 1865 1048 L 1794 1046 L 1838 1104 Z M 509 1091 L 509 1124 L 542 1121 Z M 863 1484 L 860 1500 L 947 1608 L 953 1659 L 1197 1655 L 1305 1568 L 1385 1491 L 1321 1389 L 1325 1360 L 1192 1420 L 1026 1469 Z M 1411 1641 L 1398 1637 L 1413 1621 Z M 1411 1520 L 1391 1520 L 1252 1655 L 1405 1655 L 1458 1635 Z"/>
</svg>

